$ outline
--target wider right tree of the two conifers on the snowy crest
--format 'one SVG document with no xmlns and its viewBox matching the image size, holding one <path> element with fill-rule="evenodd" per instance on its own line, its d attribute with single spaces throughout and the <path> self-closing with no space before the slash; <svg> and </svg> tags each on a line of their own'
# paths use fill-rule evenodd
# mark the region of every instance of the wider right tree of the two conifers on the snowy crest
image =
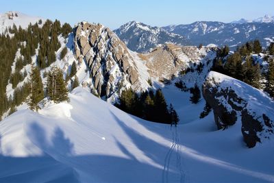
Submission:
<svg viewBox="0 0 274 183">
<path fill-rule="evenodd" d="M 60 103 L 62 101 L 69 101 L 68 95 L 69 91 L 66 88 L 62 70 L 53 67 L 47 76 L 47 97 Z"/>
</svg>

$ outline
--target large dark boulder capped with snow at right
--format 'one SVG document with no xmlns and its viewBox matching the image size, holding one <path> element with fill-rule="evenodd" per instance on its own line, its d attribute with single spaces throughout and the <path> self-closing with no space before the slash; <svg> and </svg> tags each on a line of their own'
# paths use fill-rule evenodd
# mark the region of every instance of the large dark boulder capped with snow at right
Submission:
<svg viewBox="0 0 274 183">
<path fill-rule="evenodd" d="M 218 129 L 242 122 L 247 147 L 273 136 L 274 101 L 262 91 L 211 71 L 203 83 L 203 98 L 213 108 Z"/>
</svg>

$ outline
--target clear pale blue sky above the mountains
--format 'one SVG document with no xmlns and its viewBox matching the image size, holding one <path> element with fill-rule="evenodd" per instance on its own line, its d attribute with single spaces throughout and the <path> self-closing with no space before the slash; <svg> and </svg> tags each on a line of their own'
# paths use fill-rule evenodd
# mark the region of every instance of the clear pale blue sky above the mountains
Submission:
<svg viewBox="0 0 274 183">
<path fill-rule="evenodd" d="M 101 23 L 111 29 L 128 21 L 153 26 L 195 21 L 231 22 L 274 16 L 274 0 L 0 0 L 0 12 L 10 10 L 71 25 Z"/>
</svg>

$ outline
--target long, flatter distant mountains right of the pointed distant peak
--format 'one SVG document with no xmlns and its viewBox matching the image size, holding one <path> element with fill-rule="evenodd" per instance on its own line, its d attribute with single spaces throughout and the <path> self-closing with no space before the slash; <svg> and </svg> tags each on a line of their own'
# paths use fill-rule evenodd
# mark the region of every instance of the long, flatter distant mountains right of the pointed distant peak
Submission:
<svg viewBox="0 0 274 183">
<path fill-rule="evenodd" d="M 274 38 L 274 23 L 221 23 L 198 21 L 190 25 L 171 25 L 163 27 L 168 32 L 186 36 L 193 45 L 213 43 L 222 47 L 229 45 L 232 49 L 247 41 L 259 39 L 263 47 Z"/>
</svg>

